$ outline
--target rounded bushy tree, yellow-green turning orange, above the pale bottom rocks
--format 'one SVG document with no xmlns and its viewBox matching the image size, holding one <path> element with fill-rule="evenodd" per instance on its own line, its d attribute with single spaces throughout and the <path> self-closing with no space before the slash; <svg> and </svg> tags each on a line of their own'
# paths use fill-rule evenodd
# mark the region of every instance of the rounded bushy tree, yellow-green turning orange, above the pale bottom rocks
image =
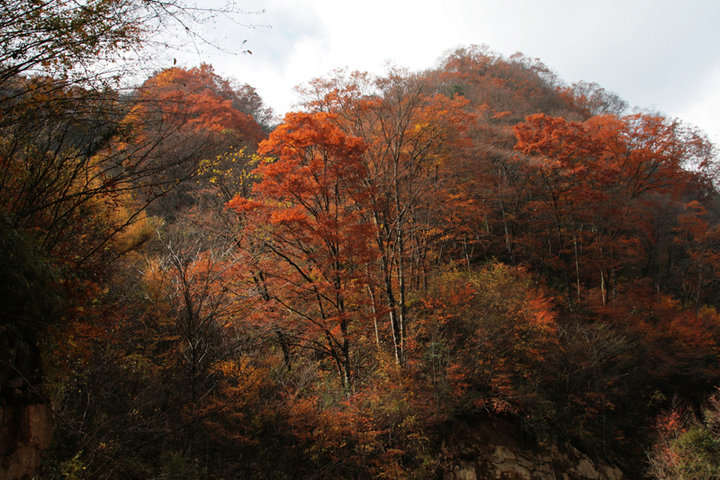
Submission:
<svg viewBox="0 0 720 480">
<path fill-rule="evenodd" d="M 458 412 L 523 412 L 545 421 L 540 385 L 556 334 L 551 299 L 521 268 L 446 273 L 423 300 L 421 336 L 427 355 L 439 355 L 426 368 Z"/>
</svg>

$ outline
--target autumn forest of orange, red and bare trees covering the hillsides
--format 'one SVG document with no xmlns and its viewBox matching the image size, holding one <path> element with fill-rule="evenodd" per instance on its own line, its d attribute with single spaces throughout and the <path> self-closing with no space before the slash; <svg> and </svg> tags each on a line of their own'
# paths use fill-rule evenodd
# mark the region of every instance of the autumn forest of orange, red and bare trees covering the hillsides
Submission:
<svg viewBox="0 0 720 480">
<path fill-rule="evenodd" d="M 208 64 L 119 88 L 183 10 L 70 3 L 0 6 L 0 477 L 461 478 L 499 425 L 720 478 L 703 132 L 477 46 L 281 119 Z"/>
</svg>

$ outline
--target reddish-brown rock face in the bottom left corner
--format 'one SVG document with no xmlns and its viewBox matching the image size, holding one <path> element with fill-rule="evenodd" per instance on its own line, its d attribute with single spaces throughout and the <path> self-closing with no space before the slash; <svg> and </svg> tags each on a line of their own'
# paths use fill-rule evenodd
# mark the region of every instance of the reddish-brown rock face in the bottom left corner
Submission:
<svg viewBox="0 0 720 480">
<path fill-rule="evenodd" d="M 31 478 L 54 430 L 55 420 L 47 405 L 8 404 L 0 398 L 0 478 Z"/>
</svg>

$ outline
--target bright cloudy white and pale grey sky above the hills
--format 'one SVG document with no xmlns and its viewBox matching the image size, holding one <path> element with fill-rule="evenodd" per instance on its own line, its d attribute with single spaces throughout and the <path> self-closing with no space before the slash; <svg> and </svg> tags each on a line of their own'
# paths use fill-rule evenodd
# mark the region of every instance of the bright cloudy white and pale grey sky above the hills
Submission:
<svg viewBox="0 0 720 480">
<path fill-rule="evenodd" d="M 221 0 L 217 0 L 221 1 Z M 277 114 L 294 87 L 336 68 L 432 68 L 458 47 L 539 58 L 566 83 L 596 82 L 633 107 L 705 131 L 720 146 L 720 0 L 237 0 L 179 64 L 210 63 Z M 243 44 L 243 41 L 245 43 Z"/>
</svg>

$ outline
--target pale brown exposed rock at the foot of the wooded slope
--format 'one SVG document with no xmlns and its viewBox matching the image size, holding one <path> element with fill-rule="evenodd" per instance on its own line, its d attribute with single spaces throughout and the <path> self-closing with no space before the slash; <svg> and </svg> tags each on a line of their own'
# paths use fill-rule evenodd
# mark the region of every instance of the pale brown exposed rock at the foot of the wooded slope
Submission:
<svg viewBox="0 0 720 480">
<path fill-rule="evenodd" d="M 619 468 L 593 461 L 569 445 L 523 446 L 511 432 L 513 428 L 504 422 L 488 420 L 474 432 L 453 435 L 446 441 L 443 480 L 626 478 Z M 462 447 L 458 448 L 458 445 Z"/>
</svg>

